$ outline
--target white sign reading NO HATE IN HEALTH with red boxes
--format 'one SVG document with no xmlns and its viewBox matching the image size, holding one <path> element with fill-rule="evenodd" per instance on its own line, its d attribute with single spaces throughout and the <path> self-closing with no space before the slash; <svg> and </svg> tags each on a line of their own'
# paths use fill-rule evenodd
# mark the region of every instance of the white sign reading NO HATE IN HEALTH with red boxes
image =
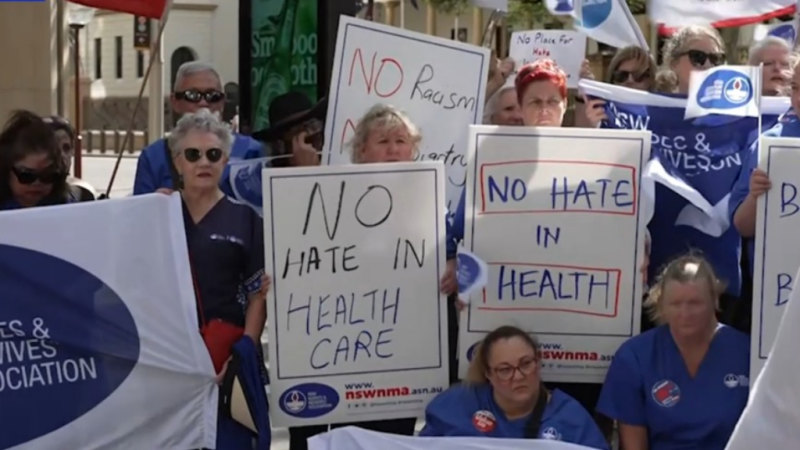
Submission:
<svg viewBox="0 0 800 450">
<path fill-rule="evenodd" d="M 501 325 L 534 333 L 546 381 L 602 382 L 639 332 L 650 132 L 470 127 L 465 246 L 489 281 L 461 317 L 462 370 Z"/>
</svg>

